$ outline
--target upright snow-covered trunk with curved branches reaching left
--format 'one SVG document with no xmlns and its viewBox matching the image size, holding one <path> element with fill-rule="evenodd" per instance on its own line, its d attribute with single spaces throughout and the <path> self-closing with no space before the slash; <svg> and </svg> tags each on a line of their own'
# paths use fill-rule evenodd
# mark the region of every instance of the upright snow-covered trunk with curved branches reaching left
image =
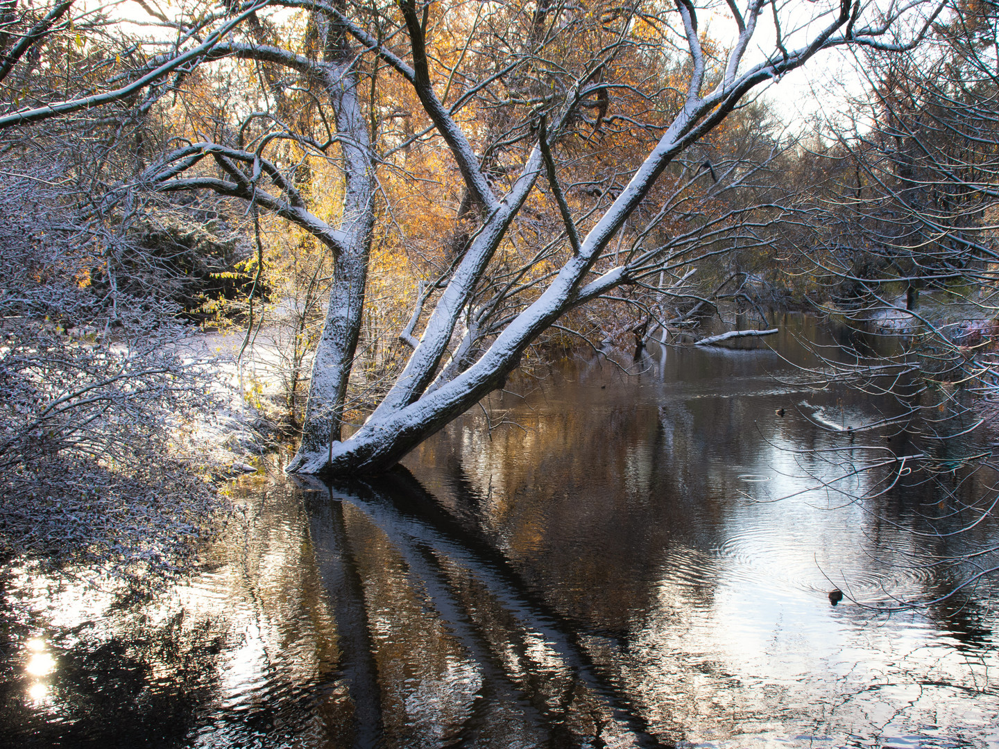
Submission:
<svg viewBox="0 0 999 749">
<path fill-rule="evenodd" d="M 343 7 L 312 7 L 311 33 L 319 40 L 320 59 L 290 49 L 230 39 L 202 45 L 207 59 L 237 57 L 261 65 L 294 71 L 307 83 L 318 83 L 325 94 L 325 106 L 334 114 L 335 133 L 321 144 L 289 129 L 282 137 L 296 140 L 326 154 L 336 142 L 344 174 L 344 200 L 339 227 L 329 225 L 312 213 L 306 197 L 297 187 L 294 173 L 277 160 L 263 155 L 265 138 L 257 150 L 242 145 L 243 130 L 256 117 L 277 118 L 272 113 L 251 113 L 240 129 L 240 142 L 200 142 L 167 154 L 142 177 L 142 182 L 160 192 L 210 190 L 221 196 L 245 201 L 298 225 L 323 243 L 334 256 L 334 279 L 323 333 L 316 352 L 309 399 L 306 405 L 302 443 L 292 461 L 292 469 L 328 459 L 333 443 L 340 439 L 344 402 L 354 364 L 364 313 L 369 255 L 375 211 L 375 164 L 367 110 L 359 94 L 359 58 L 342 23 Z M 244 14 L 247 15 L 247 14 Z M 263 34 L 262 27 L 256 27 Z M 161 66 L 162 67 L 162 66 Z M 280 87 L 274 87 L 276 96 Z M 287 109 L 289 105 L 285 105 Z M 282 108 L 279 102 L 277 109 Z M 280 112 L 279 112 L 280 114 Z M 280 123 L 279 123 L 280 124 Z M 223 131 L 225 132 L 225 131 Z M 222 140 L 222 139 L 220 139 Z M 230 138 L 232 140 L 232 138 Z M 221 167 L 222 179 L 195 172 L 199 163 L 211 157 Z M 269 184 L 268 184 L 269 183 Z"/>
</svg>

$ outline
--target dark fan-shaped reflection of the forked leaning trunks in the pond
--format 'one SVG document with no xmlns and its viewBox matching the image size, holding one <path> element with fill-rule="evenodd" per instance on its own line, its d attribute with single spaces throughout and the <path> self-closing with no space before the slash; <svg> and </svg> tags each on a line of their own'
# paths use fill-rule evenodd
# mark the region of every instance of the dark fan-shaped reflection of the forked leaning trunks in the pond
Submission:
<svg viewBox="0 0 999 749">
<path fill-rule="evenodd" d="M 553 613 L 499 552 L 449 517 L 411 475 L 401 470 L 338 484 L 318 491 L 311 504 L 327 519 L 328 508 L 341 505 L 349 538 L 340 540 L 363 570 L 358 602 L 368 611 L 387 743 L 427 743 L 430 710 L 438 727 L 433 743 L 561 746 L 581 736 L 627 736 L 640 746 L 661 745 L 594 665 L 581 642 L 587 635 Z M 322 543 L 337 543 L 334 536 Z M 344 558 L 316 543 L 319 558 Z M 333 570 L 331 581 L 340 577 Z M 352 596 L 333 585 L 330 593 Z M 473 671 L 456 679 L 456 658 Z M 355 704 L 365 699 L 358 692 Z"/>
</svg>

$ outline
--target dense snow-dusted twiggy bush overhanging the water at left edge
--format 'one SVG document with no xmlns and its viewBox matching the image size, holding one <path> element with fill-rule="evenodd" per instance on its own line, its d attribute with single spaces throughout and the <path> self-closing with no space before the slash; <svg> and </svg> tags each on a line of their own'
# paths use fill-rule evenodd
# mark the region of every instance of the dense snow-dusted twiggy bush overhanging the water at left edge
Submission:
<svg viewBox="0 0 999 749">
<path fill-rule="evenodd" d="M 172 572 L 222 506 L 186 445 L 215 406 L 171 280 L 66 154 L 9 144 L 0 183 L 0 554 Z M 127 291 L 123 291 L 127 289 Z"/>
</svg>

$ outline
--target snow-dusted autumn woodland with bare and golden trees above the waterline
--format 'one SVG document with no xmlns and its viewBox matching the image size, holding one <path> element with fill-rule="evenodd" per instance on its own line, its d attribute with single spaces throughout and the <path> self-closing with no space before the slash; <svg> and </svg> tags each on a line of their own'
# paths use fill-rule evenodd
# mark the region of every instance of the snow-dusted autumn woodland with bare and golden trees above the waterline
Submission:
<svg viewBox="0 0 999 749">
<path fill-rule="evenodd" d="M 317 472 L 374 412 L 378 468 L 535 363 L 774 310 L 894 342 L 803 376 L 988 412 L 999 7 L 821 5 L 0 2 L 6 553 L 169 571 L 250 425 Z M 862 86 L 781 121 L 754 87 L 837 46 Z"/>
</svg>

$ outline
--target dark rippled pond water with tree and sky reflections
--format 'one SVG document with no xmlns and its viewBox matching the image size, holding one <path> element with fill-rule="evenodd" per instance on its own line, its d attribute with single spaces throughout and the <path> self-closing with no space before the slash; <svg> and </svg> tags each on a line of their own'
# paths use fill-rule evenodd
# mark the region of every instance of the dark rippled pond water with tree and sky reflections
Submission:
<svg viewBox="0 0 999 749">
<path fill-rule="evenodd" d="M 765 350 L 653 364 L 564 363 L 379 480 L 248 479 L 153 600 L 8 569 L 0 744 L 999 747 L 992 579 L 879 610 L 974 572 L 996 522 L 945 533 L 995 475 L 851 475 L 920 448 L 842 431 L 899 406 Z"/>
</svg>

